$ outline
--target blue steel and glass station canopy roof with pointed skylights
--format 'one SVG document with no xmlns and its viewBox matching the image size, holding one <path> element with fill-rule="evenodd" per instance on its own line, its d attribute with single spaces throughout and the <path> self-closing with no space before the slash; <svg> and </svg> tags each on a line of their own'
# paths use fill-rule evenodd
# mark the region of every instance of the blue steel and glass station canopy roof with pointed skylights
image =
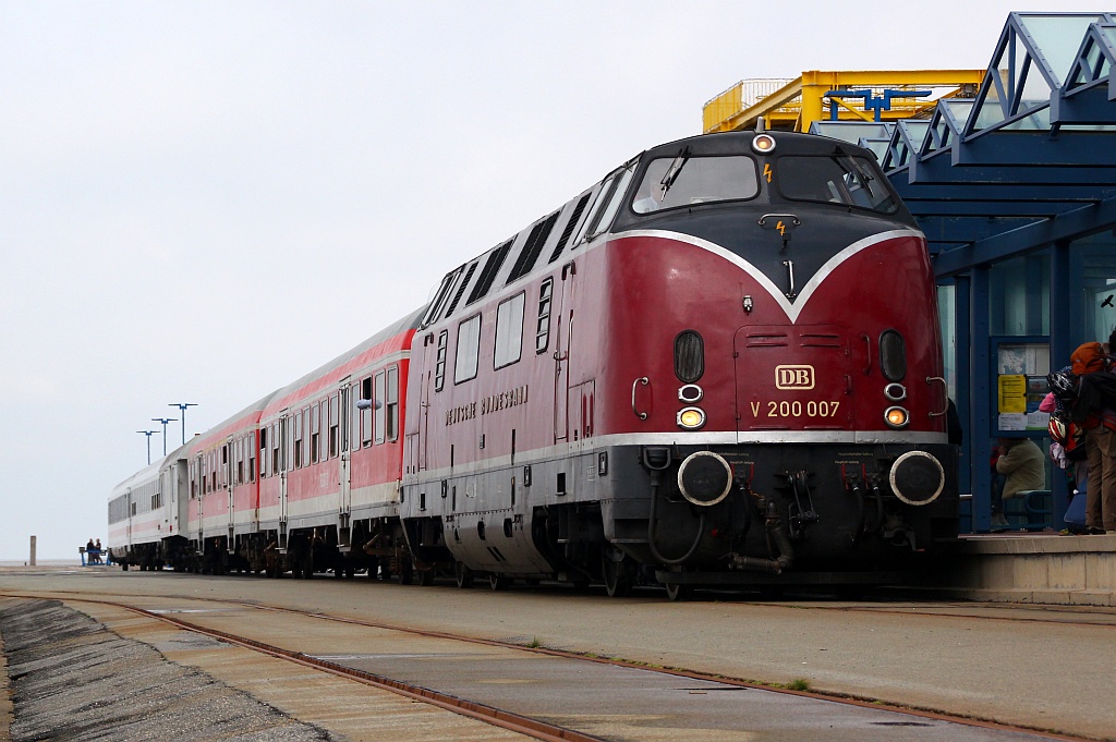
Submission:
<svg viewBox="0 0 1116 742">
<path fill-rule="evenodd" d="M 1116 224 L 1116 16 L 1013 12 L 973 97 L 918 118 L 818 121 L 873 150 L 936 274 Z"/>
</svg>

